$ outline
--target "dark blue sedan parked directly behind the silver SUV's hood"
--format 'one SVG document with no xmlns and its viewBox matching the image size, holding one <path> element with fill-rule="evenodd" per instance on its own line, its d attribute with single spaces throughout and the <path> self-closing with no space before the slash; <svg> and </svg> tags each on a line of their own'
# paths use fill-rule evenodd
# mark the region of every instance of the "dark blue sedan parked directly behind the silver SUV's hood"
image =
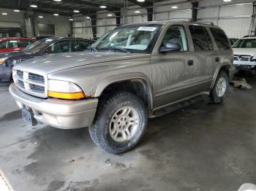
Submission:
<svg viewBox="0 0 256 191">
<path fill-rule="evenodd" d="M 0 82 L 10 82 L 12 67 L 21 61 L 45 54 L 83 51 L 91 44 L 92 42 L 88 39 L 52 37 L 29 44 L 20 52 L 2 52 L 0 53 Z"/>
</svg>

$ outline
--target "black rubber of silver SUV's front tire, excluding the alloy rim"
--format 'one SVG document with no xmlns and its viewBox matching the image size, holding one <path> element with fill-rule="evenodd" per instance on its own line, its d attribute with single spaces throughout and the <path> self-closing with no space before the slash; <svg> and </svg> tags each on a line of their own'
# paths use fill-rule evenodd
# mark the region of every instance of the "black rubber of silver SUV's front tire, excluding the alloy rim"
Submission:
<svg viewBox="0 0 256 191">
<path fill-rule="evenodd" d="M 124 142 L 115 141 L 110 136 L 110 120 L 119 109 L 127 106 L 132 107 L 137 112 L 139 117 L 138 128 L 131 139 Z M 147 121 L 146 106 L 138 96 L 128 92 L 116 93 L 110 98 L 102 98 L 99 102 L 94 124 L 89 127 L 89 133 L 94 144 L 106 152 L 118 154 L 132 149 L 138 144 L 146 132 Z"/>
</svg>

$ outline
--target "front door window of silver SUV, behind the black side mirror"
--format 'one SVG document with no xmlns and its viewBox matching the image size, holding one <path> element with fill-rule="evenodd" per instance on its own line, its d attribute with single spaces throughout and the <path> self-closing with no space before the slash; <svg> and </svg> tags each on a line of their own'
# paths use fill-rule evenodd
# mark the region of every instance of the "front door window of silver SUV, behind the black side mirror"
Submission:
<svg viewBox="0 0 256 191">
<path fill-rule="evenodd" d="M 170 26 L 168 28 L 164 39 L 162 40 L 162 47 L 165 47 L 167 42 L 178 44 L 181 46 L 180 51 L 187 51 L 187 36 L 183 26 Z"/>
</svg>

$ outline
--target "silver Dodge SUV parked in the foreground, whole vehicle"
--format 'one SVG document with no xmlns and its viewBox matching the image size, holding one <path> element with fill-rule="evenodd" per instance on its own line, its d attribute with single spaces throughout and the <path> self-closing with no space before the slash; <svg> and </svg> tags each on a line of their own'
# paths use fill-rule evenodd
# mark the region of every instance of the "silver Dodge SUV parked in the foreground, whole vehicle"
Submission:
<svg viewBox="0 0 256 191">
<path fill-rule="evenodd" d="M 206 92 L 222 103 L 233 76 L 233 51 L 217 26 L 136 23 L 109 31 L 89 49 L 15 66 L 10 94 L 31 125 L 89 127 L 94 143 L 111 153 L 135 147 L 148 117 Z"/>
</svg>

